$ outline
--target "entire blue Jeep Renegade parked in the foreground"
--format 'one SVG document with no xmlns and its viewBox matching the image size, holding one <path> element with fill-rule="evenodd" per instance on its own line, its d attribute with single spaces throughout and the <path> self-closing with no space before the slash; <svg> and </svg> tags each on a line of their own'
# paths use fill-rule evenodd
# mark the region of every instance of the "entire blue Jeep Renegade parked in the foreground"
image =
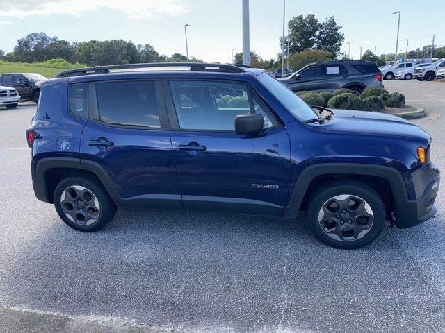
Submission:
<svg viewBox="0 0 445 333">
<path fill-rule="evenodd" d="M 337 248 L 436 212 L 431 137 L 401 118 L 311 108 L 265 71 L 219 64 L 64 71 L 32 127 L 35 196 L 81 231 L 117 207 L 296 219 Z"/>
</svg>

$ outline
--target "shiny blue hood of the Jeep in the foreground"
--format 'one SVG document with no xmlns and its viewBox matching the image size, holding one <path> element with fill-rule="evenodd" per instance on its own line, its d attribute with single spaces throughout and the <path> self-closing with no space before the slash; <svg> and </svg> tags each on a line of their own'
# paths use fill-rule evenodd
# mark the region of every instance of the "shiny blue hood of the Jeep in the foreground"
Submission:
<svg viewBox="0 0 445 333">
<path fill-rule="evenodd" d="M 421 130 L 419 126 L 391 114 L 354 110 L 331 111 L 334 112 L 334 121 L 323 126 L 328 131 L 363 133 L 385 137 L 407 137 L 425 140 L 426 142 L 430 140 L 430 135 Z"/>
</svg>

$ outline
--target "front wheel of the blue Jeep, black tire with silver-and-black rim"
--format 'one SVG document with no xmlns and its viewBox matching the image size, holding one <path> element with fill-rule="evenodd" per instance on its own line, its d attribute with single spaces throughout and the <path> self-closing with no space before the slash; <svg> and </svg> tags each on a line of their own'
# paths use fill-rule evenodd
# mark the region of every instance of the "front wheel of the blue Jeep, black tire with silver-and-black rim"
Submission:
<svg viewBox="0 0 445 333">
<path fill-rule="evenodd" d="M 318 189 L 307 210 L 314 236 L 327 246 L 343 249 L 362 248 L 374 241 L 385 226 L 385 214 L 380 196 L 368 185 L 351 180 L 330 182 Z"/>
</svg>

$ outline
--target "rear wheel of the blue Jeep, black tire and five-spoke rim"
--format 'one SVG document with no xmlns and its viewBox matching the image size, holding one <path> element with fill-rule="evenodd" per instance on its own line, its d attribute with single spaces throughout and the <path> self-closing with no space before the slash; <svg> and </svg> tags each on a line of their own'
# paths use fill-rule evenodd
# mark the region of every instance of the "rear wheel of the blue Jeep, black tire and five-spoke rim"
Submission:
<svg viewBox="0 0 445 333">
<path fill-rule="evenodd" d="M 69 177 L 59 182 L 54 206 L 63 222 L 84 232 L 99 230 L 116 214 L 116 206 L 102 184 L 90 178 Z"/>
</svg>

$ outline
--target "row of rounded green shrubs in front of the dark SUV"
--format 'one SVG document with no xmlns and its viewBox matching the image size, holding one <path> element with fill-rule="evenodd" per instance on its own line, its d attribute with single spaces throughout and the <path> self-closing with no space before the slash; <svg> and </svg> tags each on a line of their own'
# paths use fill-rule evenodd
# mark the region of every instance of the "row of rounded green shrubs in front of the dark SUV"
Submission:
<svg viewBox="0 0 445 333">
<path fill-rule="evenodd" d="M 337 89 L 334 92 L 296 92 L 307 104 L 332 109 L 363 110 L 380 112 L 385 107 L 401 108 L 405 105 L 405 96 L 398 92 L 389 94 L 381 87 L 367 87 L 360 96 L 355 96 L 350 89 Z"/>
</svg>

